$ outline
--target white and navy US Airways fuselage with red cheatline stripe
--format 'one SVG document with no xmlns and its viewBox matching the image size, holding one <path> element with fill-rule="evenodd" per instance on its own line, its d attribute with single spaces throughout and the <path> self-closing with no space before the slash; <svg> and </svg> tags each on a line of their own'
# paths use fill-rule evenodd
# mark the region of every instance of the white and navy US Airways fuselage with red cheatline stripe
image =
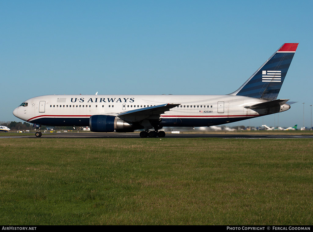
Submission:
<svg viewBox="0 0 313 232">
<path fill-rule="evenodd" d="M 236 95 L 45 95 L 30 98 L 13 114 L 46 126 L 89 126 L 92 115 L 112 115 L 167 103 L 180 104 L 160 115 L 161 126 L 213 126 L 286 111 L 244 106 L 267 100 Z"/>
</svg>

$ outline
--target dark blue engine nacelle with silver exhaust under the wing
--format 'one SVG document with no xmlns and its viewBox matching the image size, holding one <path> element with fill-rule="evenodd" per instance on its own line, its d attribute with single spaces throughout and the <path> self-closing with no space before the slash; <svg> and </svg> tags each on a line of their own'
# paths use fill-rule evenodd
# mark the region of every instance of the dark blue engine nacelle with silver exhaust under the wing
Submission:
<svg viewBox="0 0 313 232">
<path fill-rule="evenodd" d="M 111 115 L 92 115 L 89 118 L 90 131 L 93 132 L 133 132 L 132 124 Z"/>
</svg>

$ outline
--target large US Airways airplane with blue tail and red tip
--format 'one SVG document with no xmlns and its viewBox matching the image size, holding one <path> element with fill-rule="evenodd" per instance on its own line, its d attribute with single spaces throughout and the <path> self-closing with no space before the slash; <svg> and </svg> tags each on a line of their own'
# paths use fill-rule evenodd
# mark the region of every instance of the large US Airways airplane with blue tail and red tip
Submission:
<svg viewBox="0 0 313 232">
<path fill-rule="evenodd" d="M 216 126 L 290 109 L 277 99 L 298 43 L 283 44 L 244 84 L 226 95 L 44 95 L 13 115 L 41 125 L 89 126 L 93 132 L 133 132 L 164 137 L 163 127 Z M 152 129 L 152 130 L 151 130 Z"/>
</svg>

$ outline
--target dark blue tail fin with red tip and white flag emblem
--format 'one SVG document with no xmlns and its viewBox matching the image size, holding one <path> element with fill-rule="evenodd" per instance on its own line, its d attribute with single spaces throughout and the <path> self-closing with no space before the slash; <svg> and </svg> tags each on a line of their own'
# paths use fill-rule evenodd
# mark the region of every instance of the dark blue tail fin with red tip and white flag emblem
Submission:
<svg viewBox="0 0 313 232">
<path fill-rule="evenodd" d="M 283 44 L 238 90 L 229 95 L 276 100 L 298 44 Z"/>
</svg>

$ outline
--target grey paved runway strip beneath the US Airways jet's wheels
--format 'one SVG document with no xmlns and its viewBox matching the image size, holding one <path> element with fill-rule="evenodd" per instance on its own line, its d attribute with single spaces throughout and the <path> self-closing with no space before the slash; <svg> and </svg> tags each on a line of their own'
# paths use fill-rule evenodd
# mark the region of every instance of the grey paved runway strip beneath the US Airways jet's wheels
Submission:
<svg viewBox="0 0 313 232">
<path fill-rule="evenodd" d="M 23 133 L 18 136 L 0 136 L 0 138 L 36 138 L 34 133 Z M 64 132 L 64 133 L 43 133 L 41 137 L 37 139 L 44 138 L 134 138 L 134 139 L 158 139 L 158 138 L 140 138 L 139 133 L 93 133 L 93 132 Z M 195 134 L 195 133 L 181 133 L 181 134 L 171 134 L 167 133 L 166 138 L 223 138 L 223 139 L 312 139 L 313 135 L 269 135 L 269 134 Z"/>
</svg>

